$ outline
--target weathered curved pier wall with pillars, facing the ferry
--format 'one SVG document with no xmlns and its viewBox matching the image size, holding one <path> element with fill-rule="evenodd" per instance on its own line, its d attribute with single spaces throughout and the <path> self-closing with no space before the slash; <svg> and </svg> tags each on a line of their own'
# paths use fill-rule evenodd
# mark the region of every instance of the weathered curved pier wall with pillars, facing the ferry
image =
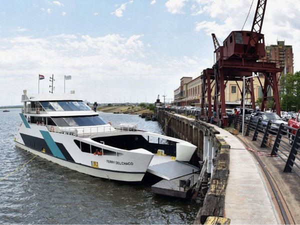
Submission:
<svg viewBox="0 0 300 225">
<path fill-rule="evenodd" d="M 222 137 L 216 136 L 220 132 L 209 123 L 164 110 L 157 110 L 156 114 L 166 135 L 189 141 L 197 146 L 193 160 L 190 161 L 192 164 L 197 165 L 198 161 L 207 158 L 210 185 L 194 223 L 204 224 L 206 219 L 215 218 L 211 216 L 223 217 L 230 146 Z"/>
</svg>

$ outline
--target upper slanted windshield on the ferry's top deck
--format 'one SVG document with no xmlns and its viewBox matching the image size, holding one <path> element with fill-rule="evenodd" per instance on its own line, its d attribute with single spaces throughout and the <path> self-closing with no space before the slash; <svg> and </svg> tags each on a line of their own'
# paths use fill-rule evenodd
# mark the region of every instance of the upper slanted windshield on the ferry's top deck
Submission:
<svg viewBox="0 0 300 225">
<path fill-rule="evenodd" d="M 83 101 L 40 101 L 45 111 L 88 111 L 91 110 Z"/>
</svg>

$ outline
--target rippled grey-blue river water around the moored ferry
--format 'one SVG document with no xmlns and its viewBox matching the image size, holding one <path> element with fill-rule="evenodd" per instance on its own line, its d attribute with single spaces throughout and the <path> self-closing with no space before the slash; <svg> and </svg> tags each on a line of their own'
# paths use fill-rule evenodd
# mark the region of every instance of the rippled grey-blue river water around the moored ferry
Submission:
<svg viewBox="0 0 300 225">
<path fill-rule="evenodd" d="M 0 223 L 22 224 L 191 224 L 200 202 L 150 191 L 149 183 L 128 184 L 82 174 L 14 145 L 20 109 L 0 111 Z M 100 112 L 106 121 L 137 123 L 162 133 L 156 121 L 138 115 Z"/>
</svg>

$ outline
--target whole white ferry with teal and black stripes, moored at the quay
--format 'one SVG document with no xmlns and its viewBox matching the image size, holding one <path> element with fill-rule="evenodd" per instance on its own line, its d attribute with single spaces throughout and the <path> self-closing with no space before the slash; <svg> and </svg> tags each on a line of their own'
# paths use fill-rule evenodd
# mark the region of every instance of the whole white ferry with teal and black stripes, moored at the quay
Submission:
<svg viewBox="0 0 300 225">
<path fill-rule="evenodd" d="M 140 182 L 149 165 L 189 161 L 196 148 L 137 124 L 106 122 L 75 94 L 23 92 L 16 146 L 78 172 Z"/>
</svg>

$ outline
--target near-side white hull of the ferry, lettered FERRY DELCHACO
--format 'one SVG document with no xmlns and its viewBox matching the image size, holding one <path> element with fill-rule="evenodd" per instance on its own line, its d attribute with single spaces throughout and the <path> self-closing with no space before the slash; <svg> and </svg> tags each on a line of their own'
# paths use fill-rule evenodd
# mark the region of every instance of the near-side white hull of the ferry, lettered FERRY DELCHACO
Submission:
<svg viewBox="0 0 300 225">
<path fill-rule="evenodd" d="M 74 140 L 84 141 L 114 153 L 94 155 L 82 152 Z M 20 148 L 78 172 L 128 182 L 141 181 L 153 157 L 153 154 L 145 149 L 117 149 L 97 143 L 90 138 L 50 132 L 45 126 L 36 124 L 30 124 L 28 128 L 22 123 L 14 141 Z M 30 146 L 31 144 L 35 147 Z M 58 153 L 55 153 L 54 147 Z"/>
</svg>

